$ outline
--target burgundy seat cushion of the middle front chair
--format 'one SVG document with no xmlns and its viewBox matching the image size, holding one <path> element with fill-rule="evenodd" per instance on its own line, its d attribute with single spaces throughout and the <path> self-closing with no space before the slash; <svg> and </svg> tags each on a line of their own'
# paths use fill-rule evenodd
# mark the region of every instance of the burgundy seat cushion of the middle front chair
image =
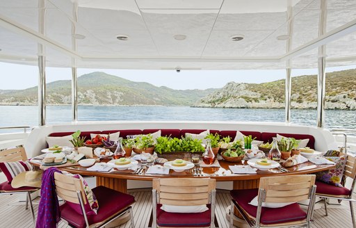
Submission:
<svg viewBox="0 0 356 228">
<path fill-rule="evenodd" d="M 160 227 L 209 227 L 211 209 L 201 213 L 170 213 L 161 210 L 162 204 L 157 204 L 157 225 Z"/>
</svg>

